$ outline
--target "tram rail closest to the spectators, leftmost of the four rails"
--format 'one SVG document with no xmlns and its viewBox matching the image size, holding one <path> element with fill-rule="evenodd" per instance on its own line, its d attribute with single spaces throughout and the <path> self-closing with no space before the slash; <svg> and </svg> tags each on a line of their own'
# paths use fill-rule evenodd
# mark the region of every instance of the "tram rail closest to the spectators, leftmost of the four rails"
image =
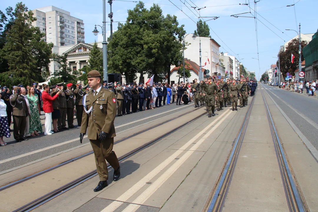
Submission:
<svg viewBox="0 0 318 212">
<path fill-rule="evenodd" d="M 198 110 L 198 109 L 199 109 L 199 108 L 194 109 L 194 110 L 192 110 L 191 112 L 196 111 L 196 110 Z M 190 113 L 191 113 L 191 112 L 190 112 Z M 168 123 L 168 122 L 170 122 L 170 121 L 172 121 L 172 120 L 175 120 L 175 119 L 177 119 L 177 118 L 180 118 L 181 116 L 184 116 L 185 114 L 187 114 L 187 113 L 181 114 L 181 115 L 179 115 L 179 116 L 177 116 L 177 117 L 175 117 L 175 118 L 172 118 L 172 119 L 169 119 L 169 120 L 167 120 L 167 121 L 164 121 L 164 122 L 160 123 L 160 125 L 165 124 L 165 123 Z M 158 126 L 160 126 L 160 125 L 158 125 Z M 158 126 L 155 126 L 155 127 L 158 127 Z M 134 136 L 136 136 L 136 135 L 139 135 L 139 134 L 141 134 L 141 133 L 144 133 L 144 132 L 146 132 L 146 131 L 148 131 L 148 130 L 150 130 L 150 129 L 153 129 L 153 128 L 155 128 L 155 127 L 149 127 L 149 128 L 144 129 L 144 130 L 142 130 L 142 131 L 140 131 L 140 132 L 138 132 L 138 133 L 134 133 L 134 134 L 132 134 L 132 135 L 129 135 L 129 136 L 126 137 L 126 138 L 123 138 L 123 139 L 121 139 L 121 140 L 118 140 L 118 141 L 114 142 L 114 144 L 118 144 L 118 143 L 120 143 L 120 142 L 122 142 L 122 141 L 128 140 L 129 138 L 132 138 L 132 137 L 134 137 Z M 39 175 L 41 175 L 41 174 L 45 174 L 45 173 L 47 173 L 47 172 L 49 172 L 49 171 L 52 171 L 52 170 L 54 170 L 54 169 L 56 169 L 56 168 L 62 167 L 62 166 L 64 166 L 64 165 L 68 164 L 68 163 L 71 163 L 71 162 L 73 162 L 73 161 L 77 161 L 77 160 L 79 160 L 79 159 L 81 159 L 81 158 L 84 158 L 84 157 L 86 157 L 86 156 L 88 156 L 88 155 L 91 155 L 91 154 L 93 154 L 93 151 L 90 151 L 90 152 L 88 152 L 88 153 L 82 154 L 82 155 L 77 156 L 77 157 L 75 157 L 75 158 L 72 158 L 72 159 L 70 159 L 70 160 L 64 161 L 64 162 L 62 162 L 62 163 L 59 163 L 59 164 L 57 164 L 57 165 L 55 165 L 55 166 L 53 166 L 53 167 L 47 168 L 47 169 L 42 170 L 42 171 L 40 171 L 40 172 L 37 172 L 37 173 L 31 174 L 31 175 L 29 175 L 29 176 L 23 177 L 23 178 L 21 178 L 21 179 L 19 179 L 19 180 L 17 180 L 17 181 L 10 182 L 9 184 L 6 184 L 6 185 L 0 187 L 0 192 L 3 191 L 3 190 L 5 190 L 5 189 L 7 189 L 7 188 L 10 188 L 10 187 L 12 187 L 12 186 L 15 186 L 15 185 L 17 185 L 17 184 L 20 184 L 20 183 L 22 183 L 22 182 L 28 181 L 28 180 L 30 180 L 30 179 L 32 179 L 32 178 L 34 178 L 34 177 L 37 177 L 37 176 L 39 176 Z"/>
</svg>

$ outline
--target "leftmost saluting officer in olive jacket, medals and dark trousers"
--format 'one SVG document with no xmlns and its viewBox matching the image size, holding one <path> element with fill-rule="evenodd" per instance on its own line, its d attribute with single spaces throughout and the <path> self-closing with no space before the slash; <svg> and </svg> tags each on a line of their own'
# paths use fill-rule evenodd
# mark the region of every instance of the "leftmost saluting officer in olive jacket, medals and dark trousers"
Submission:
<svg viewBox="0 0 318 212">
<path fill-rule="evenodd" d="M 24 131 L 26 126 L 26 117 L 29 114 L 26 101 L 21 97 L 21 87 L 16 86 L 13 91 L 14 94 L 10 96 L 10 103 L 13 107 L 13 136 L 16 142 L 28 140 L 24 138 Z"/>
</svg>

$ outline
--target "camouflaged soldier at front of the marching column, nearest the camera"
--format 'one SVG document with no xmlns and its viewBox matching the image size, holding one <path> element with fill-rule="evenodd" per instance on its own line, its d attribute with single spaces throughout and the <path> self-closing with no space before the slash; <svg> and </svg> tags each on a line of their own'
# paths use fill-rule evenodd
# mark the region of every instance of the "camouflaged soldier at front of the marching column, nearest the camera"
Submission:
<svg viewBox="0 0 318 212">
<path fill-rule="evenodd" d="M 209 77 L 207 78 L 208 83 L 205 84 L 204 82 L 201 83 L 201 86 L 204 88 L 206 94 L 206 105 L 208 106 L 208 111 L 209 111 L 209 117 L 214 116 L 214 105 L 215 105 L 215 92 L 217 91 L 217 85 L 212 82 L 212 78 Z"/>
</svg>

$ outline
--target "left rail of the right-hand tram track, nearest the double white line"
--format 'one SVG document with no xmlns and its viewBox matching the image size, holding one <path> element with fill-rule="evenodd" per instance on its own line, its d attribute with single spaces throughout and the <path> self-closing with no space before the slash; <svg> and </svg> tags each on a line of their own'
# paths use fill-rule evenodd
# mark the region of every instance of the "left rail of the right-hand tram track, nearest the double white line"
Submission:
<svg viewBox="0 0 318 212">
<path fill-rule="evenodd" d="M 228 180 L 231 177 L 231 173 L 232 173 L 232 170 L 233 170 L 233 165 L 234 165 L 234 162 L 235 162 L 235 158 L 237 156 L 236 153 L 239 150 L 238 147 L 239 147 L 239 144 L 241 143 L 240 140 L 242 140 L 242 138 L 244 137 L 246 126 L 247 126 L 249 117 L 251 115 L 252 106 L 254 104 L 254 99 L 255 99 L 255 97 L 252 99 L 250 107 L 249 107 L 249 109 L 248 109 L 248 111 L 247 111 L 247 113 L 245 115 L 245 119 L 243 121 L 242 127 L 241 127 L 241 129 L 239 131 L 239 134 L 237 136 L 237 139 L 234 142 L 231 154 L 230 154 L 230 156 L 229 156 L 229 158 L 228 158 L 228 160 L 226 162 L 225 168 L 223 169 L 223 173 L 221 175 L 221 178 L 218 181 L 218 186 L 217 186 L 217 188 L 216 188 L 216 190 L 214 192 L 212 201 L 211 201 L 210 206 L 209 206 L 209 208 L 207 210 L 208 212 L 212 212 L 216 207 L 220 206 L 220 203 L 221 203 L 221 200 L 222 200 L 222 196 L 224 195 L 224 192 L 226 190 L 226 185 L 224 185 L 224 184 L 228 183 Z"/>
</svg>

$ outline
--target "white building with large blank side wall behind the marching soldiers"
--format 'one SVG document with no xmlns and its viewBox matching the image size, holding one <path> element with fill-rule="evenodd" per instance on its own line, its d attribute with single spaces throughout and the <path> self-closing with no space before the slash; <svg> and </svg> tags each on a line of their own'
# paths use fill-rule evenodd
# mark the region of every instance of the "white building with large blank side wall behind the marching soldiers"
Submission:
<svg viewBox="0 0 318 212">
<path fill-rule="evenodd" d="M 219 47 L 221 47 L 214 39 L 206 37 L 192 38 L 193 34 L 186 34 L 184 41 L 188 44 L 184 50 L 184 58 L 190 59 L 196 64 L 200 65 L 200 41 L 201 41 L 201 65 L 209 58 L 210 65 L 207 65 L 205 69 L 212 73 L 220 73 L 220 59 L 219 59 Z M 173 67 L 171 67 L 173 68 Z M 223 76 L 223 75 L 222 75 Z"/>
</svg>

